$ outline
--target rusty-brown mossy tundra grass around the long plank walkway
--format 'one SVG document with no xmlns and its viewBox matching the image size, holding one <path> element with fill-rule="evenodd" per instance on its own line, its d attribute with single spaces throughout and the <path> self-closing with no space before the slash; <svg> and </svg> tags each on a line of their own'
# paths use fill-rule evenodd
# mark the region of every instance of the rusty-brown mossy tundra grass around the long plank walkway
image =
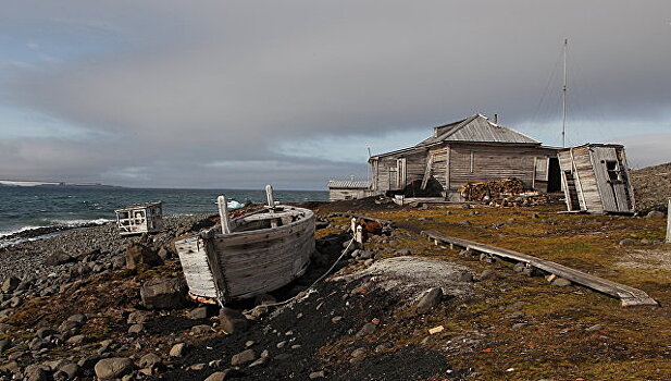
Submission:
<svg viewBox="0 0 671 381">
<path fill-rule="evenodd" d="M 397 327 L 396 344 L 442 348 L 453 368 L 472 368 L 474 379 L 671 379 L 671 273 L 619 265 L 630 250 L 661 250 L 671 258 L 671 247 L 660 244 L 666 220 L 557 210 L 449 207 L 370 212 L 412 232 L 395 235 L 396 247 L 474 271 L 489 267 L 496 274 L 476 284 L 476 297 L 459 305 L 444 303 Z M 418 234 L 421 230 L 513 249 L 638 287 L 660 307 L 623 308 L 618 299 L 579 285 L 551 286 L 542 276 L 514 273 L 511 263 L 486 265 L 434 246 Z M 622 247 L 622 239 L 631 242 Z M 393 256 L 390 249 L 384 256 Z M 436 325 L 445 330 L 428 335 Z"/>
</svg>

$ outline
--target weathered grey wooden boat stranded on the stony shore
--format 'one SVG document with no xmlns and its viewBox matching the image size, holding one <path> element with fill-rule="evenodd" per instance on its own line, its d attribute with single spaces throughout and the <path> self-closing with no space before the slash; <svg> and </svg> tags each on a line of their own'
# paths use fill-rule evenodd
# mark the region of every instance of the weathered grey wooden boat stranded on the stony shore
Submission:
<svg viewBox="0 0 671 381">
<path fill-rule="evenodd" d="M 302 275 L 314 251 L 314 213 L 268 205 L 228 219 L 226 198 L 218 198 L 221 224 L 175 242 L 189 295 L 226 304 L 277 290 Z"/>
</svg>

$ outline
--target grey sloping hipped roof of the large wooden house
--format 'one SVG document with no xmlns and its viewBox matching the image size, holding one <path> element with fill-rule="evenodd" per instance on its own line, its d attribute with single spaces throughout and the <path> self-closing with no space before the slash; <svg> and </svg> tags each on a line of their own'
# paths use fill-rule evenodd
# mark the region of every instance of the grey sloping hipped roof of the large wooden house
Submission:
<svg viewBox="0 0 671 381">
<path fill-rule="evenodd" d="M 428 146 L 440 142 L 540 145 L 540 142 L 510 127 L 496 124 L 483 114 L 475 114 L 461 121 L 434 127 L 434 135 L 420 142 L 415 147 Z"/>
</svg>

